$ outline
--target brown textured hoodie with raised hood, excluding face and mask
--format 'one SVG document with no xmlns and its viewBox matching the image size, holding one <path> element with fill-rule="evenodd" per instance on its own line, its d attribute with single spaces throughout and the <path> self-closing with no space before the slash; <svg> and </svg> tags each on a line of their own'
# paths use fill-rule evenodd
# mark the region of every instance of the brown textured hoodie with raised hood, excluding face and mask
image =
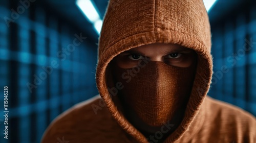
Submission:
<svg viewBox="0 0 256 143">
<path fill-rule="evenodd" d="M 150 43 L 175 43 L 198 54 L 197 72 L 185 114 L 164 142 L 256 142 L 256 120 L 249 113 L 206 96 L 212 76 L 211 35 L 202 0 L 111 0 L 99 39 L 96 82 L 100 93 L 59 115 L 48 127 L 48 142 L 160 142 L 172 125 L 144 136 L 115 101 L 108 65 L 118 54 Z"/>
</svg>

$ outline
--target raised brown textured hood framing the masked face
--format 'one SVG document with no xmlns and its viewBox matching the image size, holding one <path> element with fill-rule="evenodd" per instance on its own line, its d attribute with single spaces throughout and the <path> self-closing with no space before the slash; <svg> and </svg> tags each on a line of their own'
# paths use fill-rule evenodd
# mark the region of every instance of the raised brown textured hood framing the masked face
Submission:
<svg viewBox="0 0 256 143">
<path fill-rule="evenodd" d="M 173 43 L 198 54 L 197 71 L 184 118 L 166 140 L 175 142 L 200 128 L 204 110 L 200 110 L 210 87 L 212 57 L 209 19 L 202 0 L 110 0 L 104 16 L 98 44 L 96 83 L 99 94 L 117 123 L 139 142 L 147 142 L 123 116 L 108 91 L 108 65 L 118 54 L 151 43 Z"/>
</svg>

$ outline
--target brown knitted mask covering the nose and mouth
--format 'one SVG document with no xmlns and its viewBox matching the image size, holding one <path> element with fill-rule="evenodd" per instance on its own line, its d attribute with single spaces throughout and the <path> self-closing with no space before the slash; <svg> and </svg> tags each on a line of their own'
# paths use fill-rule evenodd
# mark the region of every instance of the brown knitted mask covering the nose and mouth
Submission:
<svg viewBox="0 0 256 143">
<path fill-rule="evenodd" d="M 170 121 L 175 111 L 186 106 L 195 69 L 194 65 L 174 67 L 158 61 L 144 67 L 115 67 L 115 81 L 123 84 L 118 96 L 128 120 L 136 116 L 154 127 Z"/>
</svg>

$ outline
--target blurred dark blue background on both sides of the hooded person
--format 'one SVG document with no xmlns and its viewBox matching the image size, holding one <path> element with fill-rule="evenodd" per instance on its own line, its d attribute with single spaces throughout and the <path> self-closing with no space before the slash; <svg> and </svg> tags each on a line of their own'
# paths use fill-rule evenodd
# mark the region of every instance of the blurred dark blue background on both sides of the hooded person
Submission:
<svg viewBox="0 0 256 143">
<path fill-rule="evenodd" d="M 92 2 L 99 22 L 108 2 Z M 0 142 L 39 142 L 58 114 L 98 93 L 99 26 L 74 0 L 4 0 L 0 17 Z M 219 0 L 209 18 L 215 72 L 209 96 L 256 116 L 256 3 Z"/>
</svg>

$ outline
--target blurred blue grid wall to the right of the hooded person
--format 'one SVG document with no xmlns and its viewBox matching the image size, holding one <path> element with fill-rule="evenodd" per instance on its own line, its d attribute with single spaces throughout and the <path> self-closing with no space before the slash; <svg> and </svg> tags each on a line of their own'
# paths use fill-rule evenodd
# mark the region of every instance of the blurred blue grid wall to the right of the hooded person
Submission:
<svg viewBox="0 0 256 143">
<path fill-rule="evenodd" d="M 209 96 L 256 116 L 256 9 L 234 17 L 211 28 L 214 76 Z"/>
</svg>

